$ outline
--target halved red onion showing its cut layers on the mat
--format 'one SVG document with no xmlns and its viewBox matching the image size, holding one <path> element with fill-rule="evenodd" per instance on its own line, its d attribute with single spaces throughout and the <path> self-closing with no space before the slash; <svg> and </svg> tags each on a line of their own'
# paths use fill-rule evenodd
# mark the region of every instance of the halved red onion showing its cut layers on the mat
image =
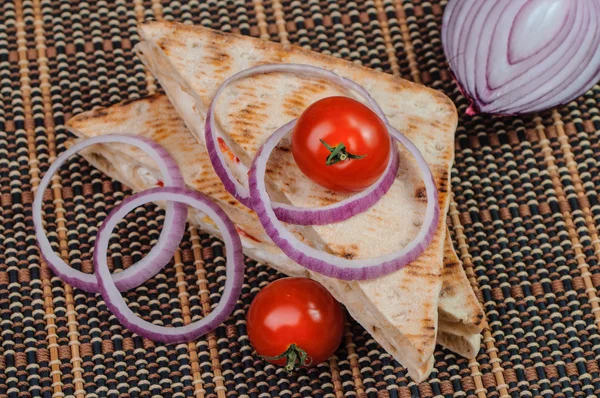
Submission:
<svg viewBox="0 0 600 398">
<path fill-rule="evenodd" d="M 449 0 L 442 43 L 468 115 L 539 112 L 600 80 L 600 0 Z"/>
</svg>

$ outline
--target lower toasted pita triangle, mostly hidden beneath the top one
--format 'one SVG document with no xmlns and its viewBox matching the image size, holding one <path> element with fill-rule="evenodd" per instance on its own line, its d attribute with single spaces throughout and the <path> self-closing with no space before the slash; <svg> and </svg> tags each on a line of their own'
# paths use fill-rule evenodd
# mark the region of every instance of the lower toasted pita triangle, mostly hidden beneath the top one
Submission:
<svg viewBox="0 0 600 398">
<path fill-rule="evenodd" d="M 181 119 L 176 116 L 169 101 L 164 96 L 153 96 L 143 100 L 122 103 L 108 109 L 99 109 L 76 116 L 69 120 L 68 126 L 80 137 L 111 134 L 126 131 L 130 134 L 144 135 L 159 142 L 167 148 L 178 161 L 190 188 L 198 189 L 215 199 L 232 217 L 245 234 L 242 234 L 245 252 L 259 261 L 274 264 L 280 271 L 289 275 L 312 276 L 327 286 L 330 291 L 343 302 L 349 309 L 354 309 L 359 322 L 369 330 L 380 344 L 393 354 L 395 349 L 385 339 L 381 327 L 376 326 L 376 321 L 364 308 L 362 301 L 348 291 L 347 286 L 340 286 L 340 281 L 324 278 L 320 275 L 309 275 L 306 270 L 291 262 L 278 248 L 268 243 L 262 228 L 252 211 L 235 201 L 223 188 L 220 180 L 214 174 L 208 161 L 203 145 L 198 144 L 186 131 Z M 111 145 L 106 147 L 92 147 L 85 153 L 92 164 L 105 171 L 134 190 L 143 190 L 154 186 L 160 178 L 159 172 L 154 168 L 150 158 L 142 151 L 124 145 Z M 195 215 L 191 221 L 201 224 L 209 232 L 217 233 L 214 227 L 201 215 Z M 253 238 L 254 239 L 253 239 Z M 260 240 L 261 242 L 257 242 Z M 451 247 L 446 244 L 447 258 L 451 263 L 458 259 Z M 456 297 L 468 297 L 469 293 L 474 298 L 466 275 L 462 267 L 450 267 L 450 272 L 444 271 L 444 288 L 442 291 L 451 291 L 440 300 L 440 313 L 451 314 L 449 322 L 463 320 L 469 323 L 470 319 L 480 319 L 481 307 L 476 299 L 472 302 Z M 450 286 L 447 288 L 447 286 Z M 454 308 L 452 308 L 454 306 Z M 470 308 L 471 314 L 464 315 L 465 308 Z M 468 314 L 468 311 L 466 312 Z M 442 317 L 442 322 L 445 316 Z M 444 323 L 442 323 L 443 325 Z M 467 329 L 464 329 L 467 330 Z M 440 331 L 439 338 L 452 333 Z M 469 346 L 470 336 L 467 334 L 448 341 L 448 348 L 460 355 L 470 355 L 478 348 Z M 471 339 L 472 340 L 472 339 Z M 464 350 L 463 347 L 471 347 Z"/>
</svg>

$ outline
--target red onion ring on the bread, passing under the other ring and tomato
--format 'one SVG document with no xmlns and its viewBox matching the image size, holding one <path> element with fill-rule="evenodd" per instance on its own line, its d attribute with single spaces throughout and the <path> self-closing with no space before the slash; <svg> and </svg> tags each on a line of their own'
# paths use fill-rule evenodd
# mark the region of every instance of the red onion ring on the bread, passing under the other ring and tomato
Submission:
<svg viewBox="0 0 600 398">
<path fill-rule="evenodd" d="M 360 84 L 345 77 L 339 76 L 334 72 L 328 71 L 327 69 L 312 65 L 272 64 L 248 68 L 229 77 L 223 82 L 223 84 L 221 84 L 208 107 L 204 126 L 206 148 L 215 172 L 223 182 L 225 189 L 242 204 L 249 208 L 253 208 L 253 204 L 248 188 L 240 183 L 233 175 L 227 166 L 225 155 L 219 149 L 218 138 L 219 136 L 223 135 L 223 132 L 220 131 L 220 128 L 215 121 L 215 107 L 220 95 L 231 83 L 258 74 L 276 72 L 294 73 L 303 76 L 317 77 L 336 83 L 348 91 L 355 92 L 362 96 L 373 112 L 375 112 L 375 114 L 377 114 L 377 116 L 379 116 L 384 123 L 387 123 L 387 118 L 385 117 L 383 110 L 369 95 L 367 90 L 365 90 Z M 303 208 L 284 203 L 272 202 L 271 205 L 273 206 L 275 214 L 281 221 L 290 224 L 323 225 L 347 220 L 348 218 L 367 210 L 369 207 L 377 203 L 377 201 L 381 199 L 383 195 L 385 195 L 385 193 L 392 186 L 394 177 L 398 173 L 398 154 L 395 150 L 392 150 L 392 152 L 393 153 L 390 156 L 388 165 L 383 175 L 371 187 L 369 187 L 369 189 L 361 192 L 360 194 L 353 195 L 338 203 L 320 208 Z"/>
</svg>

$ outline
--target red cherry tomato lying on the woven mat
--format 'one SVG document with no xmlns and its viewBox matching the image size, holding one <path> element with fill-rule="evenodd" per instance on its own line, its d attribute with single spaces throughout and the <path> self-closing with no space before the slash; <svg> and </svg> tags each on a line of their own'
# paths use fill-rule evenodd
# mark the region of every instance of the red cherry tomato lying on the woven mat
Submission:
<svg viewBox="0 0 600 398">
<path fill-rule="evenodd" d="M 342 306 L 308 278 L 283 278 L 263 288 L 246 321 L 256 352 L 288 371 L 327 360 L 344 333 Z"/>
</svg>

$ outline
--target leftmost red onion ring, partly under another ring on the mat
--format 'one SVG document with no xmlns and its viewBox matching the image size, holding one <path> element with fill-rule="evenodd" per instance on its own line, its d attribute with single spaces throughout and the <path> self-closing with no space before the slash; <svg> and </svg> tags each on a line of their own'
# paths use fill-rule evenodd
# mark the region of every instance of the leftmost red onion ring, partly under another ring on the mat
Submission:
<svg viewBox="0 0 600 398">
<path fill-rule="evenodd" d="M 33 223 L 35 226 L 35 234 L 40 247 L 40 253 L 52 271 L 63 280 L 74 287 L 90 293 L 98 292 L 98 283 L 96 276 L 86 274 L 79 270 L 70 267 L 54 252 L 48 237 L 44 231 L 42 220 L 42 204 L 44 191 L 48 188 L 52 176 L 58 171 L 60 166 L 75 153 L 94 144 L 105 143 L 122 143 L 133 145 L 146 152 L 157 164 L 164 177 L 166 186 L 184 187 L 183 176 L 179 171 L 179 167 L 169 153 L 156 142 L 143 137 L 130 135 L 106 135 L 100 137 L 89 138 L 84 141 L 79 141 L 65 152 L 63 152 L 52 163 L 44 178 L 40 182 L 38 190 L 33 201 Z M 157 244 L 152 248 L 150 253 L 142 260 L 133 264 L 131 267 L 122 272 L 113 275 L 114 282 L 119 291 L 132 289 L 143 284 L 146 280 L 156 275 L 165 264 L 167 264 L 179 242 L 185 233 L 185 222 L 187 219 L 187 207 L 177 203 L 168 203 L 166 206 L 164 227 L 161 231 Z"/>
</svg>

